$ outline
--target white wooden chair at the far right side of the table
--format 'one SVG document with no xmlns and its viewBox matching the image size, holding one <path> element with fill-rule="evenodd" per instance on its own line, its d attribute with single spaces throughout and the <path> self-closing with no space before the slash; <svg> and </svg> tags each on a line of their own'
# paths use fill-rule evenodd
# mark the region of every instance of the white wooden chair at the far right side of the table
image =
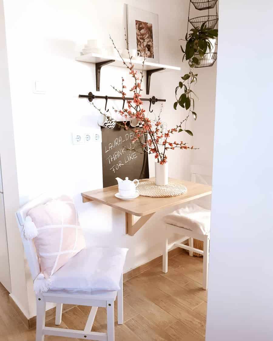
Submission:
<svg viewBox="0 0 273 341">
<path fill-rule="evenodd" d="M 192 165 L 191 166 L 191 181 L 193 182 L 201 182 L 208 184 L 204 179 L 204 176 L 211 177 L 211 170 L 207 167 Z M 202 199 L 202 198 L 201 198 Z M 199 202 L 201 199 L 198 199 Z M 203 198 L 205 199 L 205 198 Z M 198 202 L 198 204 L 199 204 Z M 210 206 L 206 201 L 203 201 L 205 205 L 199 204 L 201 206 Z M 175 211 L 171 214 L 168 214 L 163 218 L 163 221 L 166 224 L 166 235 L 163 242 L 163 272 L 168 272 L 168 250 L 170 250 L 173 246 L 178 246 L 182 249 L 189 250 L 189 255 L 193 256 L 193 252 L 199 253 L 203 255 L 203 289 L 207 290 L 207 281 L 208 281 L 208 270 L 209 270 L 209 249 L 210 249 L 210 211 L 207 211 L 203 207 L 200 207 L 195 204 L 189 204 L 184 206 L 183 211 L 186 211 L 185 208 L 189 208 L 192 213 L 197 216 L 195 219 L 195 228 L 191 230 L 191 222 L 185 219 L 185 216 L 179 215 L 179 210 Z M 180 211 L 181 212 L 181 211 Z M 202 214 L 205 216 L 205 221 L 202 219 Z M 198 218 L 198 216 L 200 218 Z M 199 220 L 198 220 L 199 219 Z M 202 221 L 203 220 L 203 221 Z M 185 224 L 187 224 L 187 228 Z M 200 224 L 202 226 L 201 229 L 196 228 L 196 225 Z M 184 227 L 183 227 L 184 226 Z M 205 226 L 205 231 L 204 231 Z M 202 231 L 201 231 L 202 230 Z M 168 243 L 170 233 L 175 233 L 178 235 L 183 235 L 182 238 L 178 240 Z M 202 240 L 204 242 L 204 250 L 199 250 L 193 247 L 193 238 L 197 240 Z M 188 240 L 189 246 L 185 245 L 183 242 Z"/>
</svg>

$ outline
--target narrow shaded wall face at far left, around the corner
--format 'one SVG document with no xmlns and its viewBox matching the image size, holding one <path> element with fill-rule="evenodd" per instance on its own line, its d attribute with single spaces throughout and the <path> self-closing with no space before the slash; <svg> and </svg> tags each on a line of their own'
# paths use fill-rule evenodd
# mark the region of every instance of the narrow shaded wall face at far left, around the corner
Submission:
<svg viewBox="0 0 273 341">
<path fill-rule="evenodd" d="M 12 297 L 16 300 L 20 309 L 28 315 L 24 250 L 15 220 L 15 211 L 19 206 L 19 195 L 13 136 L 8 56 L 5 37 L 5 18 L 2 0 L 0 0 L 0 75 L 0 156 L 6 223 L 6 236 L 3 232 L 5 227 L 2 226 L 1 238 L 7 238 L 9 245 Z M 1 267 L 5 265 L 6 264 L 1 261 Z M 3 269 L 3 271 L 6 271 L 6 269 Z M 10 289 L 10 287 L 8 287 L 8 289 Z"/>
</svg>

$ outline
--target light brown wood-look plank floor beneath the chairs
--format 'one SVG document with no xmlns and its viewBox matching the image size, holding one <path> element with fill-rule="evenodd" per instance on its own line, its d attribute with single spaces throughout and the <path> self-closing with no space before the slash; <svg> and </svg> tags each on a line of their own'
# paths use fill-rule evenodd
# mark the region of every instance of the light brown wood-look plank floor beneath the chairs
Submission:
<svg viewBox="0 0 273 341">
<path fill-rule="evenodd" d="M 160 264 L 128 279 L 124 283 L 124 324 L 117 325 L 115 316 L 116 341 L 205 340 L 207 292 L 201 285 L 202 262 L 202 257 L 190 257 L 182 250 L 169 259 L 168 273 L 162 273 Z M 84 329 L 89 311 L 90 307 L 71 306 L 63 313 L 60 327 Z M 55 327 L 54 319 L 46 325 Z M 98 309 L 92 331 L 106 332 L 105 308 Z M 0 340 L 35 340 L 35 329 L 28 329 L 20 320 L 3 286 Z M 46 336 L 45 340 L 77 339 Z"/>
</svg>

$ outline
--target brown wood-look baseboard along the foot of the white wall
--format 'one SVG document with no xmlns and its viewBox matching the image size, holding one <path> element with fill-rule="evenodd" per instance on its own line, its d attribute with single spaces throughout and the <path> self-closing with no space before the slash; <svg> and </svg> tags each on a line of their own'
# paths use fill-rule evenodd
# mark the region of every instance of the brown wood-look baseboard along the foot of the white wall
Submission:
<svg viewBox="0 0 273 341">
<path fill-rule="evenodd" d="M 176 256 L 179 253 L 182 253 L 183 249 L 181 248 L 175 248 L 173 250 L 170 250 L 168 252 L 169 258 Z M 123 274 L 123 281 L 128 281 L 128 279 L 138 276 L 141 272 L 148 270 L 149 268 L 156 266 L 162 262 L 162 256 L 156 257 L 152 261 L 149 261 L 145 264 L 142 264 L 132 270 L 129 270 L 128 272 Z M 10 294 L 10 302 L 14 308 L 14 310 L 17 312 L 17 314 L 20 316 L 21 320 L 24 322 L 24 324 L 27 326 L 27 328 L 34 328 L 36 327 L 36 316 L 33 316 L 31 318 L 27 318 L 27 316 L 23 313 L 23 311 L 19 308 L 19 306 L 16 303 L 16 299 Z M 62 312 L 66 312 L 76 306 L 64 304 L 62 308 Z M 56 314 L 56 307 L 51 308 L 46 311 L 45 313 L 45 321 L 51 320 L 52 318 L 55 318 Z"/>
</svg>

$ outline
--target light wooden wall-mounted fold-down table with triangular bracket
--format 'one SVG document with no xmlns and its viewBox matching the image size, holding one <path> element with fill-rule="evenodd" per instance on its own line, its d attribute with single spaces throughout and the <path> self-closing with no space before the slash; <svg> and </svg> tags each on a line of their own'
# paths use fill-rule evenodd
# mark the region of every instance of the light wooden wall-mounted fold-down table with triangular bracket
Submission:
<svg viewBox="0 0 273 341">
<path fill-rule="evenodd" d="M 140 180 L 146 181 L 147 179 Z M 154 180 L 152 178 L 151 180 Z M 114 207 L 125 212 L 126 217 L 126 233 L 133 236 L 138 230 L 152 217 L 155 212 L 167 207 L 176 206 L 186 203 L 193 199 L 201 198 L 211 194 L 211 186 L 200 183 L 169 179 L 183 184 L 187 187 L 187 192 L 182 195 L 172 196 L 168 198 L 153 198 L 148 196 L 139 196 L 130 201 L 120 200 L 115 197 L 118 192 L 118 186 L 106 187 L 94 191 L 82 193 L 83 203 L 89 201 L 97 201 L 99 203 Z M 133 216 L 141 217 L 136 223 L 133 222 Z"/>
</svg>

